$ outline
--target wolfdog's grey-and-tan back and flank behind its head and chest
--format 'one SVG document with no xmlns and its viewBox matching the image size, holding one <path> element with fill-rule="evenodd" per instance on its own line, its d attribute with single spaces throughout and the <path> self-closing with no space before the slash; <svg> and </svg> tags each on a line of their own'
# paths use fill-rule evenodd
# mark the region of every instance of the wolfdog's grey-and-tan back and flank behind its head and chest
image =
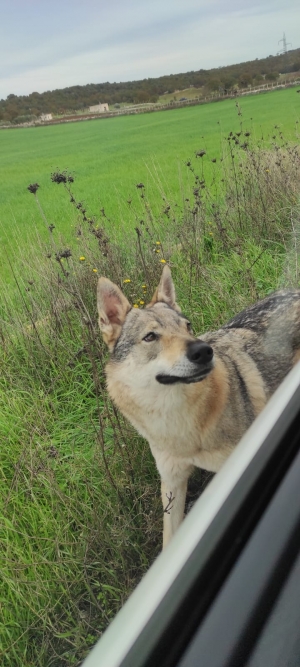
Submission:
<svg viewBox="0 0 300 667">
<path fill-rule="evenodd" d="M 300 357 L 300 291 L 275 292 L 202 338 L 229 383 L 215 437 L 234 445 Z"/>
</svg>

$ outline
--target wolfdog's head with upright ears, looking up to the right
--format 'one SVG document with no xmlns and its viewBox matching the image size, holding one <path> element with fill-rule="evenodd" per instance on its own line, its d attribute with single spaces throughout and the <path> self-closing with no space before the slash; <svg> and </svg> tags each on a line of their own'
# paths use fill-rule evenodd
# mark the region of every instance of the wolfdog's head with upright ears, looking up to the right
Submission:
<svg viewBox="0 0 300 667">
<path fill-rule="evenodd" d="M 200 382 L 213 369 L 212 348 L 195 338 L 176 304 L 168 266 L 145 309 L 132 308 L 117 285 L 100 278 L 98 313 L 111 363 L 121 364 L 135 387 Z"/>
</svg>

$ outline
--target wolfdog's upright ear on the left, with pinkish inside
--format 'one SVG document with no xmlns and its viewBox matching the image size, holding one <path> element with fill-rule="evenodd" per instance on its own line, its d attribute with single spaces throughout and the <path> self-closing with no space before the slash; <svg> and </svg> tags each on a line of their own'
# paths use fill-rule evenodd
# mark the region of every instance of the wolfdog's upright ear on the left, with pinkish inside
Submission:
<svg viewBox="0 0 300 667">
<path fill-rule="evenodd" d="M 108 278 L 99 278 L 97 288 L 99 327 L 110 350 L 121 333 L 125 317 L 131 309 L 119 287 Z"/>
</svg>

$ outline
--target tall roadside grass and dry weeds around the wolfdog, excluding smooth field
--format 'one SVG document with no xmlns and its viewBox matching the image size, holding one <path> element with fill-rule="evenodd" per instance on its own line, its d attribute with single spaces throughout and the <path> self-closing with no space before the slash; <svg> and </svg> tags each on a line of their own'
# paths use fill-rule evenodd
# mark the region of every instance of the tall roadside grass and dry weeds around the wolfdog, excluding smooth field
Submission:
<svg viewBox="0 0 300 667">
<path fill-rule="evenodd" d="M 73 175 L 54 172 L 51 187 L 76 217 L 75 251 L 31 184 L 48 241 L 18 267 L 11 258 L 15 292 L 0 297 L 4 667 L 79 665 L 160 550 L 153 460 L 105 390 L 97 277 L 143 307 L 168 262 L 198 334 L 299 285 L 299 149 L 280 135 L 268 150 L 251 141 L 241 124 L 208 172 L 198 151 L 180 202 L 152 169 L 155 206 L 138 183 L 121 241 L 104 209 L 99 220 L 89 213 Z"/>
</svg>

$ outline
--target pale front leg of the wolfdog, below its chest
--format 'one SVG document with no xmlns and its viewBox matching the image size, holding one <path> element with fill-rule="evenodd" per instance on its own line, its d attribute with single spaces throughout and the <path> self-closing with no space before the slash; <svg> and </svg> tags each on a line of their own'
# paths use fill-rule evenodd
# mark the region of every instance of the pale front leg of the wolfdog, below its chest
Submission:
<svg viewBox="0 0 300 667">
<path fill-rule="evenodd" d="M 162 479 L 161 497 L 164 511 L 163 549 L 169 544 L 178 526 L 180 526 L 183 515 L 187 491 L 187 479 L 170 483 Z"/>
</svg>

